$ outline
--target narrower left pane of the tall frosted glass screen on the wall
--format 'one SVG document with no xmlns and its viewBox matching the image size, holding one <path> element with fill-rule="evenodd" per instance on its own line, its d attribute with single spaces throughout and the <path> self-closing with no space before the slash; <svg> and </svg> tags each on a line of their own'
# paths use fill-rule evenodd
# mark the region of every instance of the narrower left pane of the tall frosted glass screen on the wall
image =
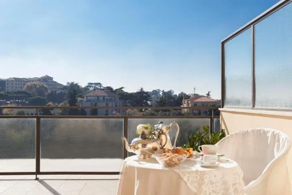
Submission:
<svg viewBox="0 0 292 195">
<path fill-rule="evenodd" d="M 225 106 L 251 107 L 251 29 L 224 45 Z"/>
</svg>

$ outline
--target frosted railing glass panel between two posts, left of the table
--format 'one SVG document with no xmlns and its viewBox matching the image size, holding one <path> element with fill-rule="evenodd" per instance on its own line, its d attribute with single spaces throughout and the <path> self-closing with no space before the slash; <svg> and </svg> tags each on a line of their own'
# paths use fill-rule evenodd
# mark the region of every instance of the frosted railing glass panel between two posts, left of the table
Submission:
<svg viewBox="0 0 292 195">
<path fill-rule="evenodd" d="M 119 172 L 122 118 L 41 119 L 41 171 Z"/>
</svg>

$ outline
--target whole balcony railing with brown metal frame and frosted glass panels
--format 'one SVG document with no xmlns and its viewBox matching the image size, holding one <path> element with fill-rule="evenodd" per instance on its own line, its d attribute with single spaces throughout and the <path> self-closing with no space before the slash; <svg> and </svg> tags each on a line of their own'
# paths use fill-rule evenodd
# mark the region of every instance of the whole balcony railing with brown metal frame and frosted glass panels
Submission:
<svg viewBox="0 0 292 195">
<path fill-rule="evenodd" d="M 138 124 L 180 126 L 177 146 L 187 135 L 210 125 L 219 130 L 219 116 L 132 116 L 39 115 L 40 109 L 80 109 L 76 106 L 0 106 L 0 109 L 35 109 L 36 115 L 0 116 L 0 175 L 119 174 L 128 153 L 121 137 L 131 142 Z M 112 107 L 87 106 L 85 109 L 199 109 L 198 107 Z M 204 107 L 218 109 L 218 107 Z M 176 131 L 170 132 L 173 143 Z"/>
</svg>

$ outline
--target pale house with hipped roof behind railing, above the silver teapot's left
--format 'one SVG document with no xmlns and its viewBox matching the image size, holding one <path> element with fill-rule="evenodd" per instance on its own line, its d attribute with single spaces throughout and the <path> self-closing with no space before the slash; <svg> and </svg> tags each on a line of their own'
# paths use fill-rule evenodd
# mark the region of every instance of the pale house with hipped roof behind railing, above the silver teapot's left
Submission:
<svg viewBox="0 0 292 195">
<path fill-rule="evenodd" d="M 79 106 L 122 106 L 123 101 L 119 99 L 119 95 L 114 92 L 95 90 L 83 95 L 84 99 L 78 101 Z M 85 109 L 87 115 L 90 109 Z M 112 115 L 112 112 L 120 113 L 120 109 L 98 109 L 98 115 Z"/>
</svg>

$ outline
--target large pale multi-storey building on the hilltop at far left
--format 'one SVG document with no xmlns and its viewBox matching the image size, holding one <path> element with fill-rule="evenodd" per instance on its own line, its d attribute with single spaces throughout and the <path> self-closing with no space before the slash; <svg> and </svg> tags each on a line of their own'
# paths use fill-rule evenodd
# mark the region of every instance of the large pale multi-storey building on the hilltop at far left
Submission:
<svg viewBox="0 0 292 195">
<path fill-rule="evenodd" d="M 48 90 L 50 91 L 57 91 L 61 87 L 63 87 L 63 84 L 60 84 L 53 80 L 53 77 L 50 77 L 48 75 L 45 75 L 43 77 L 33 77 L 33 78 L 17 78 L 12 77 L 9 79 L 6 79 L 6 89 L 5 91 L 16 91 L 16 90 L 23 90 L 25 84 L 28 82 L 35 82 L 39 81 L 41 83 L 44 83 L 48 86 Z"/>
</svg>

